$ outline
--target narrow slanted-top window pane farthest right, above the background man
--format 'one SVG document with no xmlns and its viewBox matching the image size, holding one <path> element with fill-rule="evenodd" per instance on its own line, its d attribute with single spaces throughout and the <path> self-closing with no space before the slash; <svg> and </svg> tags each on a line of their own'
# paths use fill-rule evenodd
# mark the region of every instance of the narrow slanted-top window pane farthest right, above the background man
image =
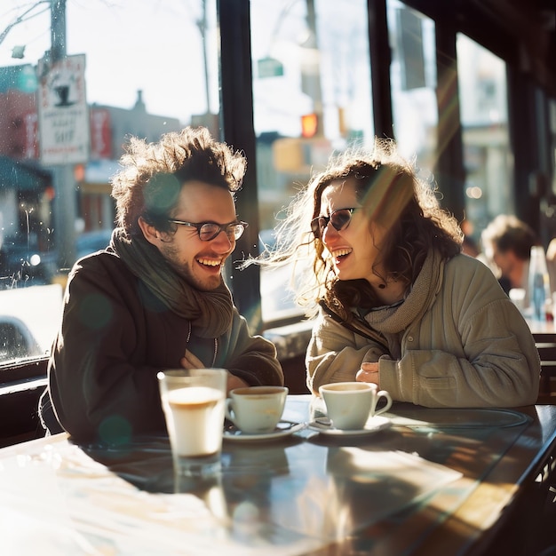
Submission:
<svg viewBox="0 0 556 556">
<path fill-rule="evenodd" d="M 457 71 L 466 173 L 466 217 L 473 239 L 498 214 L 514 214 L 506 68 L 481 45 L 457 36 Z"/>
</svg>

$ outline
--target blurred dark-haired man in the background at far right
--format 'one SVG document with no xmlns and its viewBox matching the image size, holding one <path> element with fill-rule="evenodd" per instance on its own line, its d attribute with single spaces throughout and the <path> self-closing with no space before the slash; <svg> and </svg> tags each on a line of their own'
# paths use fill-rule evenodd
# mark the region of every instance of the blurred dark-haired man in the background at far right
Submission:
<svg viewBox="0 0 556 556">
<path fill-rule="evenodd" d="M 509 293 L 512 288 L 528 290 L 528 267 L 535 232 L 512 215 L 501 214 L 483 230 L 481 241 L 488 260 L 496 265 L 498 282 Z"/>
</svg>

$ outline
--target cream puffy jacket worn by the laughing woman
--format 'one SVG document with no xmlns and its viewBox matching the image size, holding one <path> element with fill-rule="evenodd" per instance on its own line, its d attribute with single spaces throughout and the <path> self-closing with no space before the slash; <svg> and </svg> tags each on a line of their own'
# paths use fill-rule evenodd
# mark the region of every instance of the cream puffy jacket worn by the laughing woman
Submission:
<svg viewBox="0 0 556 556">
<path fill-rule="evenodd" d="M 320 310 L 306 353 L 307 385 L 354 380 L 379 361 L 380 388 L 394 401 L 431 408 L 533 404 L 540 361 L 528 324 L 480 261 L 429 254 L 408 298 L 373 310 L 381 341 Z M 361 327 L 363 328 L 363 327 Z"/>
</svg>

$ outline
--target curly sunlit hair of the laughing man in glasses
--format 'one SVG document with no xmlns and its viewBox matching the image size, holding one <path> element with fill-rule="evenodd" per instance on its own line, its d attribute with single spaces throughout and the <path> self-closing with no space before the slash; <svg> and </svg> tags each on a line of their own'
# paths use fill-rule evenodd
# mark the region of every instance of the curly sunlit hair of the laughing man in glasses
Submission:
<svg viewBox="0 0 556 556">
<path fill-rule="evenodd" d="M 185 182 L 203 181 L 234 195 L 247 167 L 241 153 L 212 139 L 203 127 L 165 133 L 157 143 L 131 137 L 120 164 L 122 170 L 112 178 L 116 225 L 131 235 L 141 233 L 139 217 L 170 232 L 167 220 Z"/>
</svg>

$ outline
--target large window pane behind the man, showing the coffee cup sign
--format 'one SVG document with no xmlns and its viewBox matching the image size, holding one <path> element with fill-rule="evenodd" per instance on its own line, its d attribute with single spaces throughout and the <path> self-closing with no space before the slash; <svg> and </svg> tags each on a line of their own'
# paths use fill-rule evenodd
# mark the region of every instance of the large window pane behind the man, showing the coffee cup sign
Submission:
<svg viewBox="0 0 556 556">
<path fill-rule="evenodd" d="M 0 361 L 50 350 L 68 269 L 109 241 L 125 138 L 189 123 L 218 136 L 214 0 L 67 2 L 65 15 L 64 43 L 51 3 L 0 8 Z"/>
</svg>

